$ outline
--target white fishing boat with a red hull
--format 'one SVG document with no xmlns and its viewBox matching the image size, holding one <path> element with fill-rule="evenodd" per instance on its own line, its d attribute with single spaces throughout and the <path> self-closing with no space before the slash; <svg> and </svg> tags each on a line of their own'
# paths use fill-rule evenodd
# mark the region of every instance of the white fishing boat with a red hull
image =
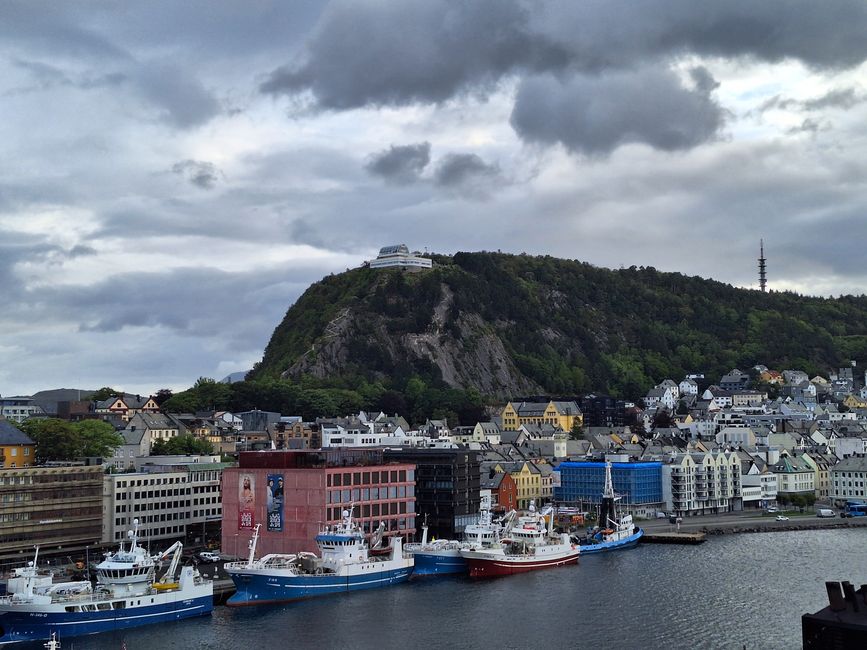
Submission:
<svg viewBox="0 0 867 650">
<path fill-rule="evenodd" d="M 493 578 L 576 564 L 580 553 L 581 548 L 567 533 L 554 533 L 553 514 L 546 522 L 532 501 L 529 513 L 518 519 L 508 537 L 490 548 L 461 551 L 473 578 Z"/>
</svg>

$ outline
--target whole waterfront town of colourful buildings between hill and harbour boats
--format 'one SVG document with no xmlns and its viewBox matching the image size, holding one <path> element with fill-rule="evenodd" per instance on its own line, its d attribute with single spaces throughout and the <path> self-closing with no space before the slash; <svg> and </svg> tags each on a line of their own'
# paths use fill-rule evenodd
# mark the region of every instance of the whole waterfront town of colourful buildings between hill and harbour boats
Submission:
<svg viewBox="0 0 867 650">
<path fill-rule="evenodd" d="M 859 516 L 865 379 L 855 361 L 827 378 L 757 365 L 715 382 L 666 379 L 635 402 L 516 399 L 473 426 L 363 411 L 313 421 L 164 412 L 158 396 L 122 392 L 54 403 L 2 397 L 0 561 L 20 563 L 35 545 L 80 560 L 125 539 L 134 520 L 155 546 L 180 539 L 238 557 L 258 523 L 267 524 L 261 552 L 312 550 L 319 527 L 339 523 L 348 507 L 365 534 L 382 525 L 407 541 L 422 521 L 434 537 L 459 537 L 483 500 L 500 514 L 554 503 L 592 518 L 604 461 L 637 520 Z M 102 455 L 62 444 L 97 428 Z M 271 521 L 265 497 L 278 477 L 283 511 Z"/>
</svg>

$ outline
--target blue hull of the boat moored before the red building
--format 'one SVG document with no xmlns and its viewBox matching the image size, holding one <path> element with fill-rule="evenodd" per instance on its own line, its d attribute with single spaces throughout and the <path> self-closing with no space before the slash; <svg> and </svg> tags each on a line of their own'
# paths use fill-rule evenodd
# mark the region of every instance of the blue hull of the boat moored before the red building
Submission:
<svg viewBox="0 0 867 650">
<path fill-rule="evenodd" d="M 243 569 L 230 571 L 236 591 L 226 604 L 230 607 L 265 605 L 388 587 L 406 582 L 412 570 L 412 561 L 409 561 L 390 569 L 360 570 L 349 574 L 280 575 Z"/>
</svg>

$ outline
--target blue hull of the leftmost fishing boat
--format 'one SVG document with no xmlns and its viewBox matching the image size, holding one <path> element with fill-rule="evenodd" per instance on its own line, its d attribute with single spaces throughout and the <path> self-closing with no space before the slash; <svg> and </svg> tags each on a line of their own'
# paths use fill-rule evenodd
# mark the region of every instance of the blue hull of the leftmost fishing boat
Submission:
<svg viewBox="0 0 867 650">
<path fill-rule="evenodd" d="M 177 598 L 173 597 L 177 595 Z M 168 597 L 167 597 L 168 596 Z M 154 604 L 150 604 L 154 599 Z M 93 601 L 108 604 L 108 601 Z M 0 609 L 0 644 L 48 639 L 56 632 L 59 639 L 125 630 L 133 627 L 168 623 L 196 616 L 205 616 L 214 608 L 213 592 L 186 597 L 180 594 L 147 594 L 120 599 L 123 609 L 67 612 L 63 604 L 45 606 L 7 607 Z M 137 604 L 138 602 L 141 605 Z"/>
</svg>

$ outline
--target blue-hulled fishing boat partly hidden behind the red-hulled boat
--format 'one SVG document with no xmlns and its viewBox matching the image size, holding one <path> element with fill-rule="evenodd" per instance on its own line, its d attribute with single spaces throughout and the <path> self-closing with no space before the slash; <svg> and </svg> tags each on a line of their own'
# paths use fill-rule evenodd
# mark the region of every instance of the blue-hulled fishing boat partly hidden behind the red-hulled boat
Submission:
<svg viewBox="0 0 867 650">
<path fill-rule="evenodd" d="M 491 516 L 489 496 L 482 497 L 479 520 L 464 529 L 463 540 L 436 539 L 428 541 L 427 518 L 422 525 L 422 539 L 419 543 L 406 544 L 404 548 L 415 558 L 413 576 L 464 574 L 467 561 L 462 550 L 490 548 L 500 541 L 500 536 L 514 520 L 515 512 L 494 521 Z"/>
</svg>

